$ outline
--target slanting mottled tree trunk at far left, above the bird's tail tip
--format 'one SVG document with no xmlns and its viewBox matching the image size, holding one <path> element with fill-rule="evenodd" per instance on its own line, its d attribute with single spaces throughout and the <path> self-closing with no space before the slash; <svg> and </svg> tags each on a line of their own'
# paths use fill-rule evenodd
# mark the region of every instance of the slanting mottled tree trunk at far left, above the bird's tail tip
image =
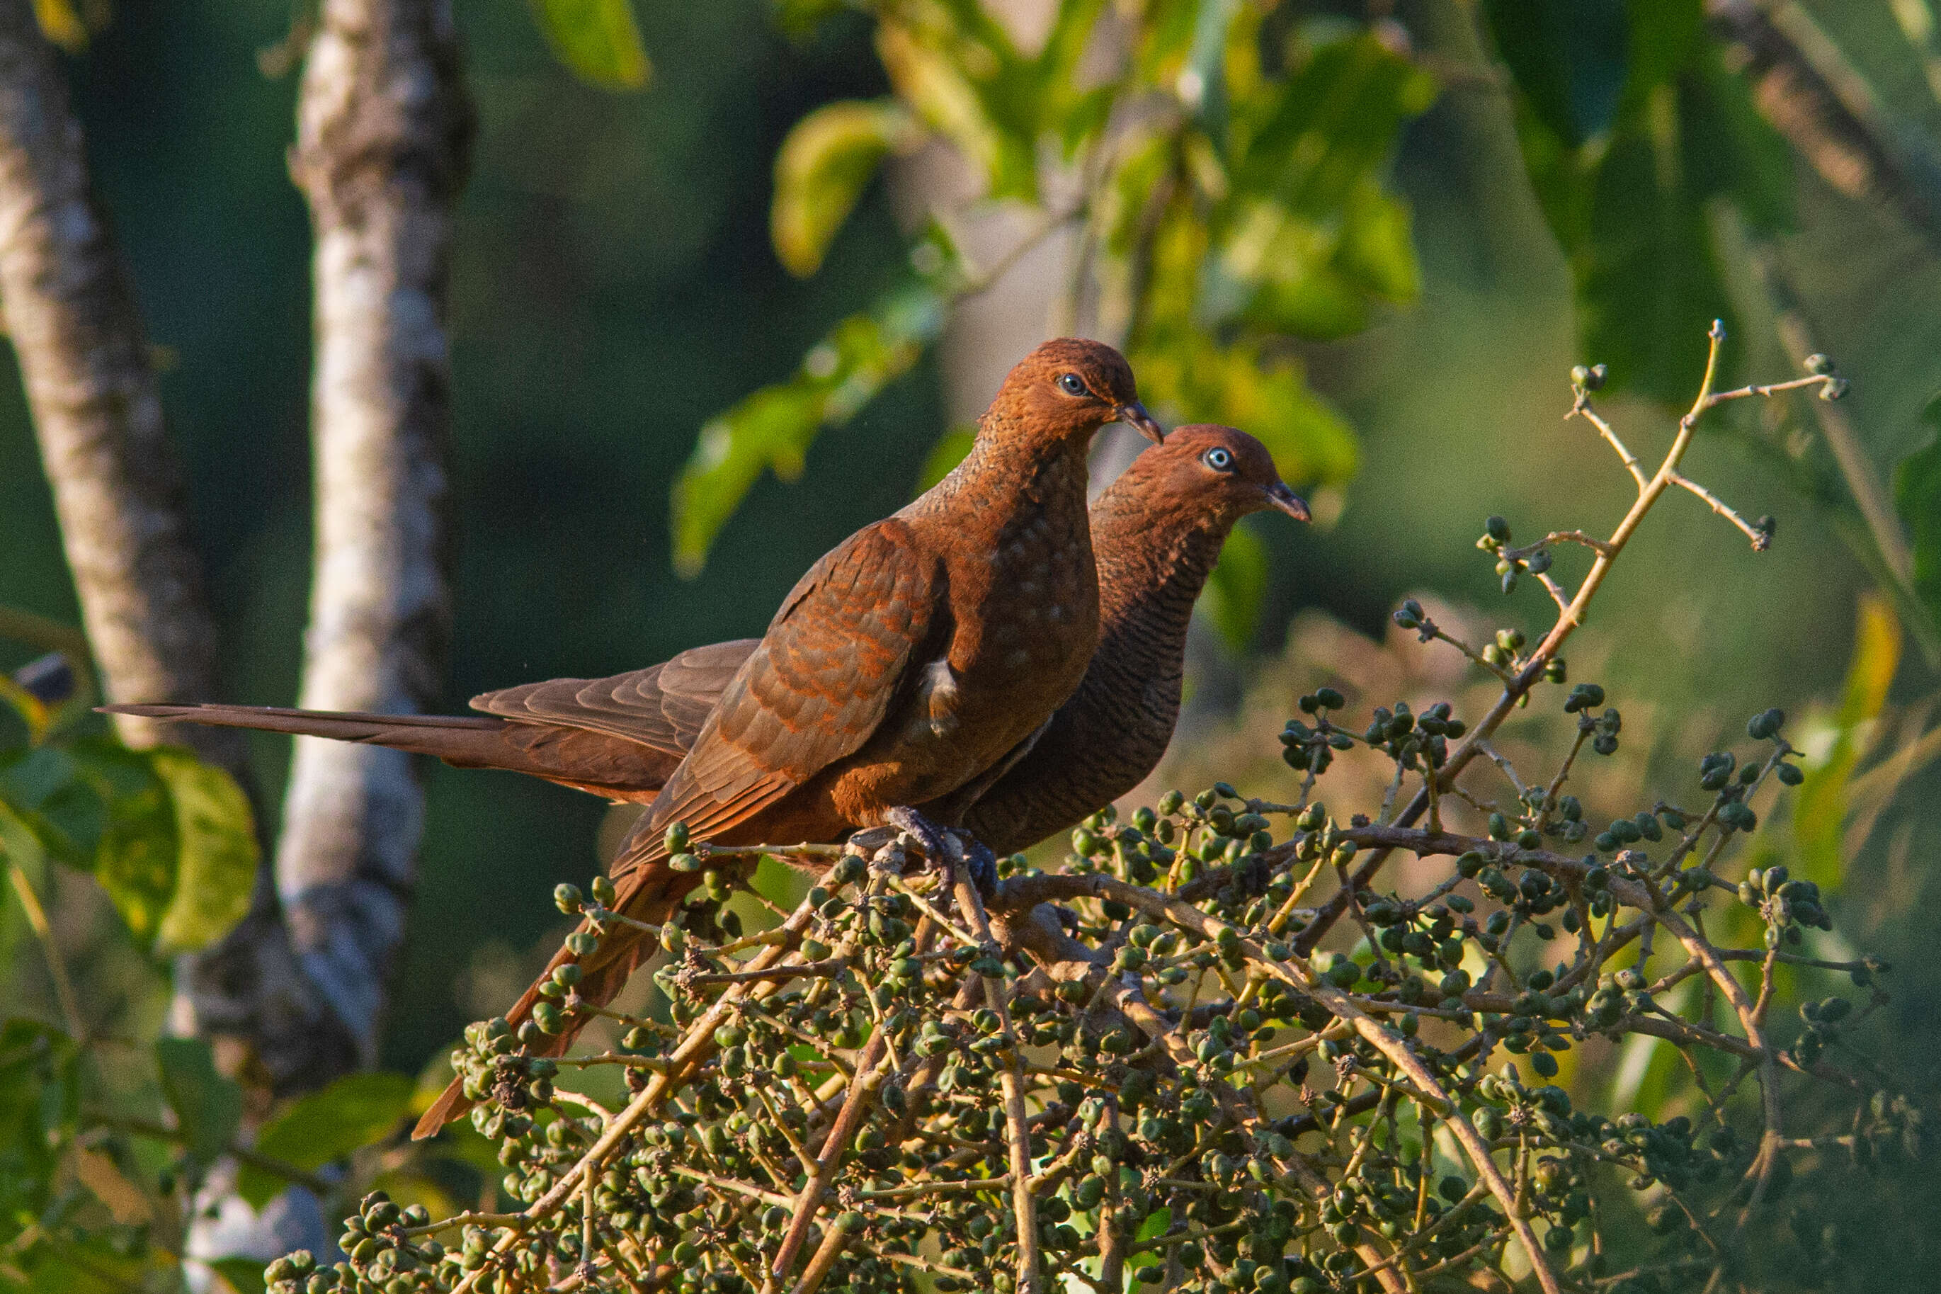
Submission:
<svg viewBox="0 0 1941 1294">
<path fill-rule="evenodd" d="M 0 312 L 60 537 L 111 700 L 210 700 L 215 621 L 148 338 L 95 208 L 82 126 L 29 0 L 0 0 Z M 179 741 L 243 772 L 239 733 L 116 716 L 128 745 Z"/>
</svg>

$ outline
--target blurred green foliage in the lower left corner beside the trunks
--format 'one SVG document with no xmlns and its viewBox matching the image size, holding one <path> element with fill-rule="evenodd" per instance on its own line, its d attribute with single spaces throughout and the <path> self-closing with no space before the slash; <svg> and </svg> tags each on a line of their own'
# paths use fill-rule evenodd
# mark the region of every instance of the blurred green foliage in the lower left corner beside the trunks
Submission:
<svg viewBox="0 0 1941 1294">
<path fill-rule="evenodd" d="M 225 935 L 248 906 L 256 832 L 227 772 L 188 751 L 78 735 L 76 671 L 47 658 L 0 689 L 0 1288 L 126 1290 L 177 1280 L 190 1199 L 229 1152 L 243 1090 L 206 1040 L 140 1036 L 68 976 L 43 894 L 91 877 L 115 943 L 167 984 L 169 958 Z M 33 947 L 37 945 L 37 947 Z M 50 995 L 33 991 L 45 966 Z M 27 1015 L 35 997 L 60 1022 Z M 140 1019 L 132 1013 L 130 1019 Z M 260 1275 L 239 1277 L 260 1288 Z"/>
</svg>

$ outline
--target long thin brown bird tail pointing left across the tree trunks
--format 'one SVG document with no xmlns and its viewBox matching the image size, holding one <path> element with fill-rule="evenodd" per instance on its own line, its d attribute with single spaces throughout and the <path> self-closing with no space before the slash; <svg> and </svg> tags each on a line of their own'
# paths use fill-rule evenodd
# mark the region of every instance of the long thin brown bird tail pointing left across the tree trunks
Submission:
<svg viewBox="0 0 1941 1294">
<path fill-rule="evenodd" d="M 144 714 L 214 728 L 256 728 L 382 745 L 413 755 L 435 755 L 458 768 L 503 768 L 608 799 L 642 803 L 654 797 L 681 762 L 679 751 L 658 751 L 611 733 L 559 724 L 524 724 L 495 716 L 363 714 L 217 704 L 101 708 L 109 714 Z"/>
</svg>

